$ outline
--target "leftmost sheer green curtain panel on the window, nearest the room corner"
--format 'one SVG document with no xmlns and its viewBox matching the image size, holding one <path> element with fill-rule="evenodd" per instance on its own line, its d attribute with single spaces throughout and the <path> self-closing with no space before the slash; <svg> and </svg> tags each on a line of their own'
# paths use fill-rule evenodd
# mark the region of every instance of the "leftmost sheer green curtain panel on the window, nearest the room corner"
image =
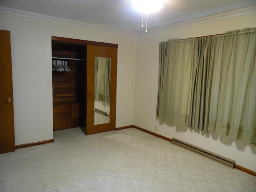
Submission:
<svg viewBox="0 0 256 192">
<path fill-rule="evenodd" d="M 198 39 L 161 42 L 158 106 L 156 115 L 180 125 L 189 125 L 192 87 L 196 72 Z M 184 52 L 187 56 L 184 57 Z"/>
</svg>

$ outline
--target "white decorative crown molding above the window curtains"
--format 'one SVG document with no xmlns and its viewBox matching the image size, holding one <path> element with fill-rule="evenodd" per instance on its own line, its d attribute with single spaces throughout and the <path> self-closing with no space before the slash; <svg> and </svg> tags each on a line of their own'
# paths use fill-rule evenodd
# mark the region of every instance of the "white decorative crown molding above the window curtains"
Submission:
<svg viewBox="0 0 256 192">
<path fill-rule="evenodd" d="M 229 11 L 229 12 L 223 12 L 220 14 L 214 14 L 211 16 L 201 17 L 198 19 L 187 20 L 184 22 L 178 22 L 178 23 L 174 23 L 171 25 L 165 25 L 165 26 L 160 26 L 160 27 L 156 27 L 156 28 L 151 28 L 148 30 L 147 33 L 145 33 L 145 31 L 140 31 L 140 32 L 137 32 L 137 35 L 146 35 L 146 34 L 152 34 L 152 33 L 157 33 L 157 32 L 163 32 L 163 31 L 172 30 L 172 29 L 176 29 L 176 28 L 182 28 L 182 27 L 186 27 L 186 26 L 191 26 L 191 25 L 196 25 L 196 24 L 201 24 L 201 23 L 206 23 L 206 22 L 212 22 L 212 21 L 216 21 L 216 20 L 241 16 L 241 15 L 246 15 L 246 14 L 252 14 L 252 13 L 256 13 L 256 5 L 238 9 L 238 10 Z"/>
</svg>

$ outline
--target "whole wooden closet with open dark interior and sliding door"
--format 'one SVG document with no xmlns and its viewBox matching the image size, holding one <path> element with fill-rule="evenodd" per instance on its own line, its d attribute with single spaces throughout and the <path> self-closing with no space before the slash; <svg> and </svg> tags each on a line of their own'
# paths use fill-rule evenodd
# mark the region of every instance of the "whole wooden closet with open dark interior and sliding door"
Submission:
<svg viewBox="0 0 256 192">
<path fill-rule="evenodd" d="M 53 130 L 84 127 L 85 134 L 94 134 L 115 129 L 117 47 L 52 36 Z M 94 121 L 97 57 L 111 61 L 109 121 L 102 124 Z"/>
</svg>

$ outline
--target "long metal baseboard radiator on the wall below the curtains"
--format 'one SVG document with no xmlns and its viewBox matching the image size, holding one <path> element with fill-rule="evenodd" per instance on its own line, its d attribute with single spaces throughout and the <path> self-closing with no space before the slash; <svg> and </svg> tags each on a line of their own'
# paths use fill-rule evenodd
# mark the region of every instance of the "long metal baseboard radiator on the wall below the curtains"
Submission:
<svg viewBox="0 0 256 192">
<path fill-rule="evenodd" d="M 220 155 L 217 155 L 215 153 L 212 153 L 210 151 L 207 151 L 207 150 L 204 150 L 202 148 L 199 148 L 197 146 L 194 146 L 194 145 L 191 145 L 191 144 L 188 144 L 184 141 L 181 141 L 181 140 L 178 140 L 176 138 L 172 138 L 172 144 L 175 144 L 175 145 L 178 145 L 182 148 L 185 148 L 185 149 L 188 149 L 192 152 L 196 152 L 202 156 L 205 156 L 207 158 L 210 158 L 216 162 L 219 162 L 221 164 L 224 164 L 228 167 L 231 167 L 231 168 L 234 168 L 235 167 L 235 161 L 233 160 L 230 160 L 228 158 L 225 158 L 223 156 L 220 156 Z"/>
</svg>

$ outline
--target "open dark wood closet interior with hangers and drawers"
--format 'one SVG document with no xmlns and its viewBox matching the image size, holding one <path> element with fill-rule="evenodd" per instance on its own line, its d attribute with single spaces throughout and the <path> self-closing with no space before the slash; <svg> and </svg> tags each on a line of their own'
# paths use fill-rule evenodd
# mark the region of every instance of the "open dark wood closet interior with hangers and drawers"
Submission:
<svg viewBox="0 0 256 192">
<path fill-rule="evenodd" d="M 86 125 L 86 45 L 52 40 L 52 98 L 53 130 Z"/>
</svg>

